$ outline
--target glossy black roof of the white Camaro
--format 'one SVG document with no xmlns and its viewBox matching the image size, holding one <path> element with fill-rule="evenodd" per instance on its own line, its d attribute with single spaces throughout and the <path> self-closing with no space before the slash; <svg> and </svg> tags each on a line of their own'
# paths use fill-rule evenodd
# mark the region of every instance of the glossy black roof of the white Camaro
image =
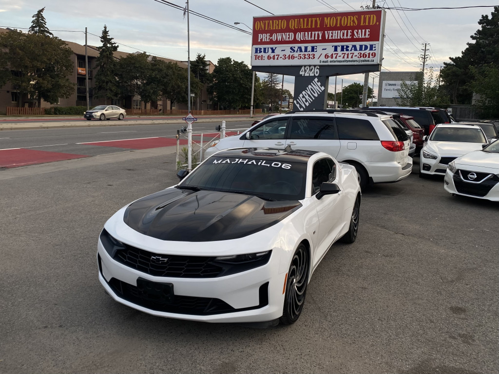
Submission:
<svg viewBox="0 0 499 374">
<path fill-rule="evenodd" d="M 233 157 L 237 159 L 259 159 L 268 157 L 272 161 L 307 163 L 308 159 L 315 155 L 315 151 L 282 150 L 274 148 L 237 148 L 217 152 L 211 157 Z"/>
</svg>

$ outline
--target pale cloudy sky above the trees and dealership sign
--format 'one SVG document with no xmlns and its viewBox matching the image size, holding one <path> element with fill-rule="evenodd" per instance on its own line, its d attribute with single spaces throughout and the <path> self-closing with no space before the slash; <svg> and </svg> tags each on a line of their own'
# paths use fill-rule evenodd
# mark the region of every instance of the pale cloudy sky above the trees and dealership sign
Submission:
<svg viewBox="0 0 499 374">
<path fill-rule="evenodd" d="M 170 0 L 184 7 L 186 0 Z M 241 22 L 237 27 L 248 30 L 253 16 L 273 14 L 301 14 L 358 10 L 372 5 L 370 0 L 189 0 L 191 11 L 204 14 L 229 25 Z M 472 39 L 482 14 L 494 10 L 491 0 L 386 0 L 377 5 L 389 7 L 430 8 L 491 5 L 466 9 L 429 9 L 401 11 L 387 9 L 385 45 L 382 71 L 418 71 L 419 56 L 424 43 L 428 43 L 430 59 L 426 67 L 438 72 L 449 57 L 460 56 Z M 496 4 L 497 5 L 497 4 Z M 161 0 L 0 0 L 0 27 L 28 28 L 32 15 L 45 7 L 43 15 L 47 27 L 63 40 L 84 44 L 85 27 L 88 28 L 88 44 L 100 45 L 99 36 L 104 24 L 119 49 L 125 52 L 146 51 L 149 54 L 186 61 L 187 18 L 182 10 L 168 6 Z M 251 36 L 207 19 L 190 15 L 190 58 L 198 53 L 217 63 L 219 58 L 231 57 L 250 66 Z M 56 31 L 60 30 L 60 31 Z M 25 31 L 25 30 L 24 30 Z M 92 35 L 93 34 L 93 35 Z M 258 73 L 263 79 L 264 73 Z M 378 74 L 371 73 L 369 86 L 377 93 Z M 363 84 L 364 74 L 338 76 L 336 91 L 357 82 Z M 335 79 L 329 80 L 329 92 L 335 90 Z M 284 76 L 284 88 L 294 91 L 294 77 Z"/>
</svg>

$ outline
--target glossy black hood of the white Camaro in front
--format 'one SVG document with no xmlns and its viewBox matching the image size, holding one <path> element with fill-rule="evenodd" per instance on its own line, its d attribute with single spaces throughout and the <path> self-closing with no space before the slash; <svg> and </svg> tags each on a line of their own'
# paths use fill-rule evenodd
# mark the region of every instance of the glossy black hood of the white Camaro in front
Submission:
<svg viewBox="0 0 499 374">
<path fill-rule="evenodd" d="M 134 230 L 161 240 L 217 241 L 261 231 L 300 206 L 299 201 L 265 201 L 247 194 L 168 188 L 131 203 L 123 220 Z"/>
</svg>

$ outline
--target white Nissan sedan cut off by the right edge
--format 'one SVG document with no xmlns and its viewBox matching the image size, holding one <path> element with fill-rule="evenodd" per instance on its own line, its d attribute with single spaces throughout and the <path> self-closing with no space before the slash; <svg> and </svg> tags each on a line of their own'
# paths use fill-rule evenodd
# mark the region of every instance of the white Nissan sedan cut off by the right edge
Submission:
<svg viewBox="0 0 499 374">
<path fill-rule="evenodd" d="M 449 163 L 444 188 L 452 194 L 499 201 L 499 140 Z"/>
</svg>

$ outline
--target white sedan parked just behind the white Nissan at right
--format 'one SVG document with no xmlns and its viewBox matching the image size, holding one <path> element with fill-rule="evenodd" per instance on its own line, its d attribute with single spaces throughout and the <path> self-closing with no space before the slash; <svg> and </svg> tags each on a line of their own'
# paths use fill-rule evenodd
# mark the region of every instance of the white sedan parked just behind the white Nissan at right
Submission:
<svg viewBox="0 0 499 374">
<path fill-rule="evenodd" d="M 488 144 L 488 140 L 480 126 L 460 123 L 437 125 L 421 150 L 419 176 L 444 176 L 451 161 L 481 150 L 483 144 Z"/>
</svg>

